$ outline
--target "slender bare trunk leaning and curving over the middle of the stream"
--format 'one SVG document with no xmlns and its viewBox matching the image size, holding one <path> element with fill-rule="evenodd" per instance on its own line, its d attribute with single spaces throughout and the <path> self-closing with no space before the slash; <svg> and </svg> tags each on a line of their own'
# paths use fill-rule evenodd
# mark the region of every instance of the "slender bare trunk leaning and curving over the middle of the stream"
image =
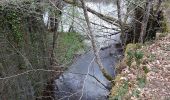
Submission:
<svg viewBox="0 0 170 100">
<path fill-rule="evenodd" d="M 92 30 L 91 30 L 90 21 L 89 21 L 89 17 L 88 17 L 88 14 L 87 14 L 87 8 L 85 6 L 84 0 L 81 0 L 81 3 L 82 3 L 82 8 L 83 8 L 83 11 L 84 11 L 85 20 L 86 20 L 87 27 L 88 27 L 88 34 L 91 37 L 92 48 L 93 48 L 93 51 L 94 51 L 96 63 L 98 64 L 103 76 L 106 79 L 108 79 L 109 81 L 112 81 L 113 78 L 107 73 L 107 71 L 104 69 L 104 66 L 101 62 L 101 59 L 100 59 L 100 56 L 99 56 L 99 51 L 97 49 L 97 45 L 96 45 L 96 42 L 95 42 L 95 38 L 94 38 L 94 35 L 92 33 Z"/>
</svg>

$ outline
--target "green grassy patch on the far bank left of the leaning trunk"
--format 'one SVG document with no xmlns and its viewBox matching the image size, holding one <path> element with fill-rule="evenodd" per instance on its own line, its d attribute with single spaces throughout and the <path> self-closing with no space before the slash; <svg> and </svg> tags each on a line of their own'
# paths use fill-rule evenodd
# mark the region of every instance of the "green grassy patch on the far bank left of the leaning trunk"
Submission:
<svg viewBox="0 0 170 100">
<path fill-rule="evenodd" d="M 74 54 L 84 49 L 82 40 L 83 38 L 78 33 L 61 33 L 58 38 L 58 48 L 56 50 L 58 63 L 70 63 Z"/>
</svg>

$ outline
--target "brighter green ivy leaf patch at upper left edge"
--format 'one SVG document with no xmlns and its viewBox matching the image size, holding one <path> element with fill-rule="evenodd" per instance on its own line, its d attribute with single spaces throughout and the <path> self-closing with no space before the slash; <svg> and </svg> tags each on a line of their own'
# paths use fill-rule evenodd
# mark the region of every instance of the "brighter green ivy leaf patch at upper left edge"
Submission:
<svg viewBox="0 0 170 100">
<path fill-rule="evenodd" d="M 8 38 L 12 41 L 19 43 L 23 39 L 21 16 L 22 14 L 17 10 L 10 7 L 0 7 L 0 27 L 4 32 L 8 32 Z"/>
</svg>

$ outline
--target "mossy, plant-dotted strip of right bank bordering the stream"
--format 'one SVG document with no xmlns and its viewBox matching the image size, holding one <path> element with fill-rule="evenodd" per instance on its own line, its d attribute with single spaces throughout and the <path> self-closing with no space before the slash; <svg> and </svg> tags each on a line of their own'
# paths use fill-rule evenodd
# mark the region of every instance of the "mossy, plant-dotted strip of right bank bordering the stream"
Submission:
<svg viewBox="0 0 170 100">
<path fill-rule="evenodd" d="M 111 90 L 110 100 L 127 100 L 130 97 L 139 97 L 138 89 L 146 84 L 146 74 L 149 72 L 144 66 L 144 52 L 141 44 L 129 44 L 126 47 L 125 57 L 118 65 L 121 72 L 115 78 L 115 86 Z M 124 66 L 122 68 L 122 66 Z M 133 74 L 131 74 L 133 72 Z"/>
</svg>

